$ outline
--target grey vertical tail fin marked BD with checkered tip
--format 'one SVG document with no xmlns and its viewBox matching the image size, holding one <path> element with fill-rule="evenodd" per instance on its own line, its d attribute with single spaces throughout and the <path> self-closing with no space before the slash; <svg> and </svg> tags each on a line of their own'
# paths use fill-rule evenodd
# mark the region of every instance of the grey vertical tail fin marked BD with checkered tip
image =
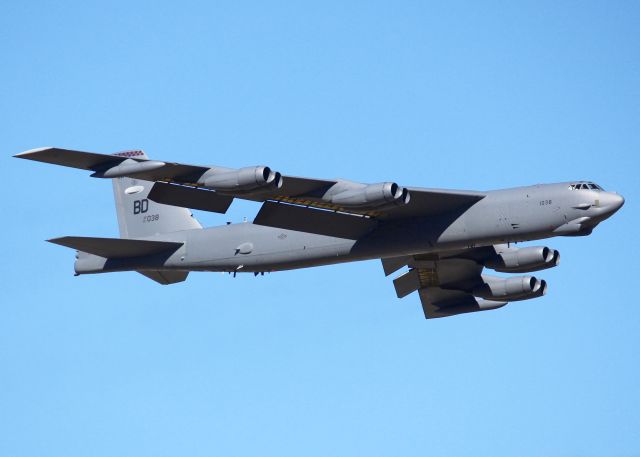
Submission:
<svg viewBox="0 0 640 457">
<path fill-rule="evenodd" d="M 143 151 L 125 151 L 114 155 L 147 159 Z M 153 184 L 151 181 L 134 178 L 113 179 L 121 238 L 142 238 L 159 233 L 202 228 L 189 209 L 149 200 L 147 196 Z"/>
</svg>

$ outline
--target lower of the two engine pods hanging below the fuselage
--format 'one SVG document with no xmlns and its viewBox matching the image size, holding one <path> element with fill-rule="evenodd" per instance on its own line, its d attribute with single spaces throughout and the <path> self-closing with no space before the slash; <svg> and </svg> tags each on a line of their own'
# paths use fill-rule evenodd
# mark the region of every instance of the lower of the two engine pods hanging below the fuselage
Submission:
<svg viewBox="0 0 640 457">
<path fill-rule="evenodd" d="M 498 278 L 483 276 L 484 284 L 473 290 L 473 295 L 487 300 L 528 300 L 541 297 L 547 292 L 547 282 L 535 276 Z"/>
</svg>

